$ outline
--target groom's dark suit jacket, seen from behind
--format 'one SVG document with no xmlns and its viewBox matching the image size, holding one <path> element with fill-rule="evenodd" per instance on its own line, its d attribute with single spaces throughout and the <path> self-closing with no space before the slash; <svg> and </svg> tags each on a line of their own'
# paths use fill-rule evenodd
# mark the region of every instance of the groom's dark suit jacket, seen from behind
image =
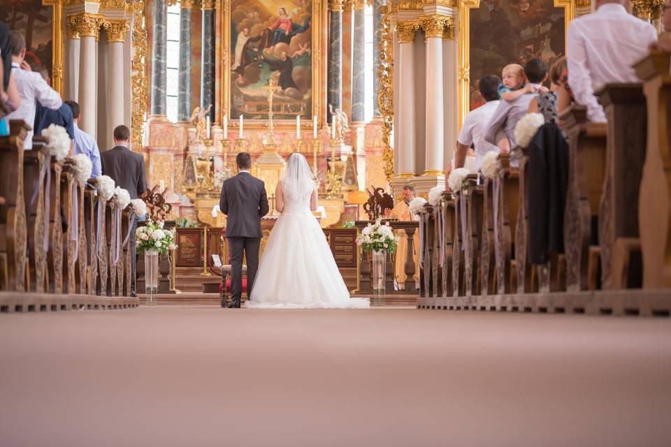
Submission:
<svg viewBox="0 0 671 447">
<path fill-rule="evenodd" d="M 261 217 L 268 214 L 266 185 L 250 173 L 224 180 L 219 208 L 226 214 L 226 237 L 263 237 Z"/>
</svg>

